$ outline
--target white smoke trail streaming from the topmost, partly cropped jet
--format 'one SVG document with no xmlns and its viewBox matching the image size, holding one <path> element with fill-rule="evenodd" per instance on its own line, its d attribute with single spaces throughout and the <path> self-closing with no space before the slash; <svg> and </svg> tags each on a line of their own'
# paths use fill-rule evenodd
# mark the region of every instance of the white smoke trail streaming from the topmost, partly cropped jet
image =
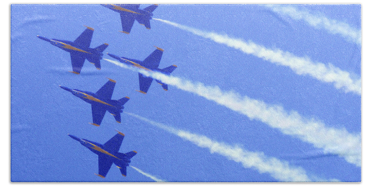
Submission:
<svg viewBox="0 0 370 187">
<path fill-rule="evenodd" d="M 298 57 L 290 52 L 280 49 L 268 49 L 252 41 L 245 42 L 242 39 L 231 38 L 227 35 L 220 35 L 214 32 L 205 32 L 185 25 L 177 24 L 167 20 L 153 18 L 166 24 L 175 26 L 195 35 L 211 39 L 219 44 L 238 49 L 244 53 L 251 54 L 270 61 L 277 65 L 290 67 L 297 75 L 310 75 L 325 83 L 333 83 L 337 89 L 343 88 L 361 95 L 361 79 L 352 79 L 349 72 L 343 71 L 331 64 L 314 63 L 311 59 Z"/>
</svg>

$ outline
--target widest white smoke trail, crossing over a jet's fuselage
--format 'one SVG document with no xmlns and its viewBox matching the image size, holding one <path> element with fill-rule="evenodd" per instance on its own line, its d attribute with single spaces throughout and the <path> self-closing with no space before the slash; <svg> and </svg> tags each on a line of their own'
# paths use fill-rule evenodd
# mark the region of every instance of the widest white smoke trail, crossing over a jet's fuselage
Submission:
<svg viewBox="0 0 370 187">
<path fill-rule="evenodd" d="M 337 154 L 349 163 L 361 166 L 361 135 L 350 134 L 346 129 L 326 127 L 323 122 L 309 120 L 296 111 L 287 112 L 282 106 L 269 105 L 263 101 L 240 96 L 234 91 L 222 91 L 218 86 L 205 86 L 202 83 L 192 83 L 179 77 L 164 75 L 159 72 L 148 72 L 129 67 L 115 60 L 105 59 L 118 66 L 134 70 L 145 76 L 161 80 L 163 83 L 188 91 L 208 100 L 215 101 L 233 111 L 246 115 L 250 120 L 259 120 L 278 128 L 283 134 L 292 135 L 302 141 L 312 143 L 324 153 Z"/>
</svg>

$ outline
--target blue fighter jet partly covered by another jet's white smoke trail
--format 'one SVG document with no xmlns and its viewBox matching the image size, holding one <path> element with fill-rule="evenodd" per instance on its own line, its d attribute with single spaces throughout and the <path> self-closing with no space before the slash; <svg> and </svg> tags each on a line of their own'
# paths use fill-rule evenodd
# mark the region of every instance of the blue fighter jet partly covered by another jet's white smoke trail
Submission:
<svg viewBox="0 0 370 187">
<path fill-rule="evenodd" d="M 176 69 L 176 65 L 168 66 L 165 69 L 159 69 L 159 62 L 161 61 L 162 54 L 163 54 L 163 49 L 155 46 L 157 49 L 155 49 L 154 52 L 152 52 L 144 61 L 136 60 L 136 59 L 130 59 L 126 57 L 118 57 L 113 54 L 107 53 L 109 56 L 112 58 L 115 58 L 117 60 L 120 60 L 121 63 L 125 63 L 128 65 L 132 65 L 135 67 L 138 67 L 140 69 L 145 69 L 147 71 L 157 71 L 164 73 L 166 75 L 169 75 Z M 140 93 L 147 94 L 148 89 L 150 85 L 152 84 L 153 78 L 152 77 L 147 77 L 145 75 L 142 75 L 139 73 L 139 86 L 140 90 L 136 90 Z M 155 80 L 157 81 L 158 84 L 162 85 L 162 88 L 167 91 L 168 90 L 168 85 L 165 83 L 162 83 L 160 80 Z"/>
</svg>

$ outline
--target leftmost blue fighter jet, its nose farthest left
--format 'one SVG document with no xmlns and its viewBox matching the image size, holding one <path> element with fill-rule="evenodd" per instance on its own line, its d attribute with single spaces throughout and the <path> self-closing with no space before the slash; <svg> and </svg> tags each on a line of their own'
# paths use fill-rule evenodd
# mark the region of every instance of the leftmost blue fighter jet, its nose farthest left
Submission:
<svg viewBox="0 0 370 187">
<path fill-rule="evenodd" d="M 81 68 L 84 65 L 85 59 L 94 64 L 96 69 L 101 69 L 100 60 L 103 56 L 102 52 L 105 50 L 105 48 L 107 48 L 108 44 L 102 44 L 96 48 L 90 48 L 93 32 L 93 28 L 87 27 L 87 29 L 85 29 L 85 31 L 82 32 L 82 34 L 73 42 L 60 39 L 48 39 L 45 37 L 40 37 L 39 35 L 37 35 L 37 37 L 71 53 L 73 71 L 70 72 L 78 75 L 81 72 Z"/>
</svg>

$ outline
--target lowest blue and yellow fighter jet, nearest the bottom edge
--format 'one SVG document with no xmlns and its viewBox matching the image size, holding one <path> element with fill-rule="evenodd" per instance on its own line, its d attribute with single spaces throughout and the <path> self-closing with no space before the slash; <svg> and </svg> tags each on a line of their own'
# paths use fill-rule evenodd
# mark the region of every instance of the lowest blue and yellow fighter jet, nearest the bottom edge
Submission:
<svg viewBox="0 0 370 187">
<path fill-rule="evenodd" d="M 68 134 L 68 136 L 79 141 L 83 146 L 87 147 L 87 149 L 91 150 L 91 152 L 98 155 L 99 174 L 94 173 L 95 175 L 105 178 L 112 166 L 112 163 L 114 163 L 121 170 L 121 174 L 125 177 L 127 175 L 126 167 L 129 166 L 128 163 L 131 162 L 130 159 L 135 156 L 137 152 L 133 150 L 128 153 L 119 153 L 118 150 L 120 150 L 125 134 L 119 131 L 117 132 L 118 133 L 108 142 L 105 142 L 104 145 L 87 139 L 80 139 L 70 134 Z"/>
</svg>

